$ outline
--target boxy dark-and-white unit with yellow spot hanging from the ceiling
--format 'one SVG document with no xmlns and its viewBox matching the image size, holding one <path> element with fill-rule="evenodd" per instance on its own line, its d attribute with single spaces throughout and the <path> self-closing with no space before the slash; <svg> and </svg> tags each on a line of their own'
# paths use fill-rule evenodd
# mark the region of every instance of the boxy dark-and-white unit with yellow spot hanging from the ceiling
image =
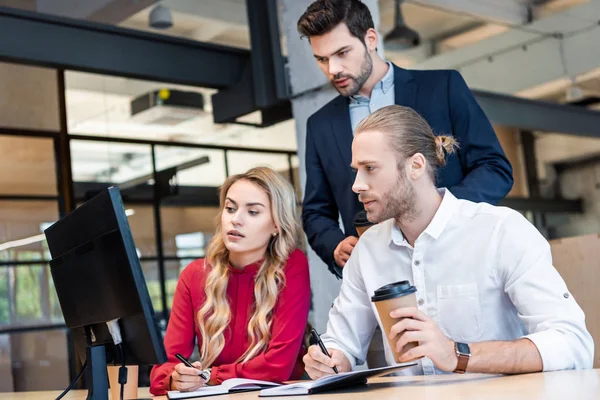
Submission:
<svg viewBox="0 0 600 400">
<path fill-rule="evenodd" d="M 178 125 L 205 114 L 198 92 L 160 89 L 131 101 L 131 118 L 143 124 Z"/>
</svg>

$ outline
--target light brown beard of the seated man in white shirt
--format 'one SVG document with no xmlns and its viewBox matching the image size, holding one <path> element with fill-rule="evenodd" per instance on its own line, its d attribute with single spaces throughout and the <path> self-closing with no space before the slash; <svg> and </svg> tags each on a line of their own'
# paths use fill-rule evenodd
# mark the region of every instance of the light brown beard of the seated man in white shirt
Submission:
<svg viewBox="0 0 600 400">
<path fill-rule="evenodd" d="M 369 198 L 367 194 L 365 197 Z M 378 199 L 378 203 L 378 210 L 366 210 L 367 219 L 374 224 L 390 218 L 409 221 L 416 216 L 415 189 L 404 175 L 404 170 L 400 171 L 396 184 Z"/>
</svg>

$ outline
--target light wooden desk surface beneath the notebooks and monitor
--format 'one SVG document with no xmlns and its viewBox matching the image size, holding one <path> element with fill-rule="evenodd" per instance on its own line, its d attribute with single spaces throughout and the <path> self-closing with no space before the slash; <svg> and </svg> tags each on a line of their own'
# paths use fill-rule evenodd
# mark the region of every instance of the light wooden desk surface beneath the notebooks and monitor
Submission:
<svg viewBox="0 0 600 400">
<path fill-rule="evenodd" d="M 65 400 L 85 400 L 86 391 L 75 390 Z M 0 400 L 55 399 L 60 391 L 0 393 Z M 141 388 L 141 399 L 149 399 L 148 388 Z M 306 397 L 306 396 L 304 396 Z M 257 392 L 218 396 L 218 400 L 274 399 L 258 397 Z M 302 397 L 281 397 L 299 400 Z M 600 369 L 558 371 L 539 374 L 498 375 L 438 375 L 376 378 L 366 386 L 335 393 L 307 397 L 311 400 L 378 400 L 401 399 L 600 399 Z M 157 397 L 162 400 L 165 397 Z"/>
</svg>

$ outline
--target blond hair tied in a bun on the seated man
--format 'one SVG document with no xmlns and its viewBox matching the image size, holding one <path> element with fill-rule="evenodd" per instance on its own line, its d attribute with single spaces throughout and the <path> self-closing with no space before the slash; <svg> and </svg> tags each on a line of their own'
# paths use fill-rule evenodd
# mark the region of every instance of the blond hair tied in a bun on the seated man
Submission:
<svg viewBox="0 0 600 400">
<path fill-rule="evenodd" d="M 415 110 L 392 105 L 380 108 L 356 127 L 355 136 L 366 131 L 384 133 L 400 160 L 423 154 L 432 177 L 437 168 L 446 164 L 446 155 L 454 153 L 458 142 L 452 136 L 436 136 L 433 130 Z"/>
</svg>

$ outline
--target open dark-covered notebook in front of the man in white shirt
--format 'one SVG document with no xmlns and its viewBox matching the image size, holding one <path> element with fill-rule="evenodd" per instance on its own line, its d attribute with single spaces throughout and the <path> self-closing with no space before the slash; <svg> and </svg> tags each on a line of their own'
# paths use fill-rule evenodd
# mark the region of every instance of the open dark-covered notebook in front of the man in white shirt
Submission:
<svg viewBox="0 0 600 400">
<path fill-rule="evenodd" d="M 314 381 L 305 381 L 293 383 L 291 385 L 282 385 L 273 388 L 267 388 L 260 391 L 260 397 L 269 396 L 295 396 L 303 394 L 314 394 L 326 392 L 335 389 L 345 389 L 348 387 L 362 385 L 367 383 L 368 378 L 389 375 L 392 372 L 404 368 L 410 368 L 416 363 L 398 364 L 391 367 L 381 367 L 367 369 L 363 371 L 343 372 L 341 374 L 326 375 Z"/>
</svg>

